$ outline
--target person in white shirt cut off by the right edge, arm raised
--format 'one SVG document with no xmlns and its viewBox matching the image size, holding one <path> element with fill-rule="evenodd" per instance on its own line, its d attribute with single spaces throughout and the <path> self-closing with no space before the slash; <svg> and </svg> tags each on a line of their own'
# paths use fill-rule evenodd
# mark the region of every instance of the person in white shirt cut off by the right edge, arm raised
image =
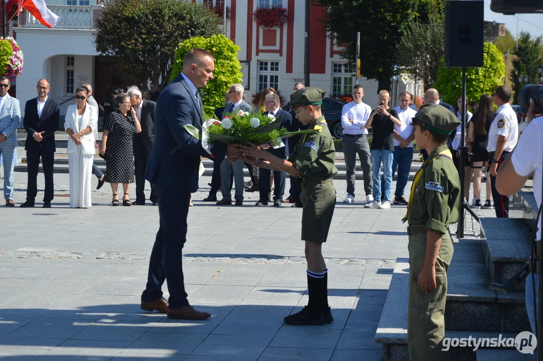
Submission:
<svg viewBox="0 0 543 361">
<path fill-rule="evenodd" d="M 496 176 L 496 189 L 501 194 L 514 194 L 519 192 L 529 175 L 534 172 L 534 198 L 541 206 L 541 164 L 543 163 L 543 116 L 534 117 L 535 103 L 530 100 L 530 107 L 527 113 L 528 126 L 519 140 L 513 154 L 508 157 L 500 167 Z M 498 119 L 498 117 L 496 117 Z M 536 240 L 541 241 L 541 218 L 539 219 L 538 232 Z M 526 255 L 527 256 L 527 255 Z M 532 286 L 532 277 L 535 277 L 535 299 L 538 300 L 539 277 L 529 274 L 526 278 L 526 311 L 528 319 L 532 326 L 532 332 L 535 333 L 535 315 L 534 315 L 534 294 Z M 536 301 L 537 302 L 537 301 Z M 537 308 L 537 303 L 536 303 Z"/>
</svg>

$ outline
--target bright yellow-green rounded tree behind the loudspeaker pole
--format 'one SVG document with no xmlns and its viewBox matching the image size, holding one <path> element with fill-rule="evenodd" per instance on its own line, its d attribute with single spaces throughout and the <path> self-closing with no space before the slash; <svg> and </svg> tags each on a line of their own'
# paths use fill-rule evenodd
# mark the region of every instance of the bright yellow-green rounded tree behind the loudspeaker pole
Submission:
<svg viewBox="0 0 543 361">
<path fill-rule="evenodd" d="M 471 104 L 478 102 L 482 94 L 491 94 L 503 85 L 506 66 L 500 50 L 493 43 L 485 42 L 483 56 L 482 68 L 466 69 L 466 99 Z M 462 94 L 462 69 L 445 68 L 441 59 L 435 87 L 446 103 L 455 104 Z"/>
</svg>

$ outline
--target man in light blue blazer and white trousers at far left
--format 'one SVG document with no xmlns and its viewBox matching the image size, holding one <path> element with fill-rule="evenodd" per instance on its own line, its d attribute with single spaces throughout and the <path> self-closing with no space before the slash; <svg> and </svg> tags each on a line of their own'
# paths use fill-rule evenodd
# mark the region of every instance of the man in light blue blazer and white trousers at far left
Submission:
<svg viewBox="0 0 543 361">
<path fill-rule="evenodd" d="M 19 101 L 8 94 L 10 81 L 0 77 L 0 154 L 4 166 L 4 198 L 7 207 L 15 207 L 13 202 L 13 155 L 17 148 L 17 128 L 21 123 Z"/>
</svg>

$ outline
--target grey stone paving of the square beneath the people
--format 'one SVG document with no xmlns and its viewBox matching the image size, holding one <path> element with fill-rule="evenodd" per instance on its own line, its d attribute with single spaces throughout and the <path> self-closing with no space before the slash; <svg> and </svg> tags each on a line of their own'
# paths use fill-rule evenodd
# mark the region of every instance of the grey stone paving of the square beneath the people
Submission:
<svg viewBox="0 0 543 361">
<path fill-rule="evenodd" d="M 16 173 L 15 183 L 20 204 L 26 174 Z M 194 193 L 186 289 L 191 304 L 213 316 L 169 320 L 139 308 L 157 208 L 111 207 L 105 185 L 93 189 L 92 208 L 73 210 L 61 197 L 67 175 L 55 174 L 53 208 L 0 207 L 0 221 L 9 224 L 0 235 L 0 289 L 7 295 L 0 297 L 0 357 L 380 360 L 374 338 L 395 260 L 407 248 L 405 207 L 343 204 L 345 182 L 334 185 L 339 202 L 323 251 L 335 320 L 293 327 L 283 317 L 307 303 L 299 208 L 254 207 L 254 193 L 245 193 L 247 205 L 219 207 L 201 201 L 207 186 Z"/>
</svg>

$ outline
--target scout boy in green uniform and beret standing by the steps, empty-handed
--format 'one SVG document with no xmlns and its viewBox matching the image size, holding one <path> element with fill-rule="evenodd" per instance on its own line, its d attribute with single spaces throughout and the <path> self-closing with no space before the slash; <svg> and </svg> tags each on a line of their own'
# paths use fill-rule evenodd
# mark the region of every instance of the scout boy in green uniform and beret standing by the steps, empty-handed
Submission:
<svg viewBox="0 0 543 361">
<path fill-rule="evenodd" d="M 458 221 L 460 180 L 447 139 L 460 124 L 438 104 L 425 104 L 413 118 L 416 146 L 430 156 L 415 174 L 406 217 L 409 226 L 407 344 L 412 361 L 443 358 L 447 268 L 453 243 L 449 224 Z"/>
</svg>

